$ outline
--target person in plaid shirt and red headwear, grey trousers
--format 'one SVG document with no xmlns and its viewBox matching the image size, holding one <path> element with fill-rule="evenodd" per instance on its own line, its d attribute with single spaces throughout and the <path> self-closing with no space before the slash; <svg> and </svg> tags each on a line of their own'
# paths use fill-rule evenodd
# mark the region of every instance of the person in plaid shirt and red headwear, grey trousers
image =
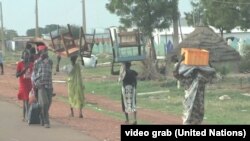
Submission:
<svg viewBox="0 0 250 141">
<path fill-rule="evenodd" d="M 40 57 L 35 61 L 33 81 L 38 93 L 38 103 L 41 106 L 41 125 L 50 128 L 49 108 L 52 102 L 52 68 L 53 61 L 48 56 L 48 48 L 45 45 L 39 45 L 38 51 Z"/>
</svg>

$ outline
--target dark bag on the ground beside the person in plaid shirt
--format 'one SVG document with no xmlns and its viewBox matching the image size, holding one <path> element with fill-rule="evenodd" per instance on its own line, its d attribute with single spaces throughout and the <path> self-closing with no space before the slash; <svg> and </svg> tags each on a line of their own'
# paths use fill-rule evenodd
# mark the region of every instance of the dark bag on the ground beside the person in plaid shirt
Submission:
<svg viewBox="0 0 250 141">
<path fill-rule="evenodd" d="M 28 112 L 28 124 L 40 124 L 41 107 L 38 102 L 30 104 Z"/>
</svg>

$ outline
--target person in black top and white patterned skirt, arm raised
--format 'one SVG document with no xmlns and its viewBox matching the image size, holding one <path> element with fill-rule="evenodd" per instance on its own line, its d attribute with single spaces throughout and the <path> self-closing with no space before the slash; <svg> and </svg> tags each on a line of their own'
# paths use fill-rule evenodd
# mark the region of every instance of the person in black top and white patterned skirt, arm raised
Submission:
<svg viewBox="0 0 250 141">
<path fill-rule="evenodd" d="M 131 62 L 122 63 L 119 71 L 114 71 L 113 65 L 112 63 L 111 74 L 119 75 L 118 82 L 122 81 L 121 104 L 126 118 L 125 123 L 129 123 L 129 114 L 133 113 L 134 121 L 132 124 L 137 124 L 136 88 L 138 73 L 131 69 Z"/>
</svg>

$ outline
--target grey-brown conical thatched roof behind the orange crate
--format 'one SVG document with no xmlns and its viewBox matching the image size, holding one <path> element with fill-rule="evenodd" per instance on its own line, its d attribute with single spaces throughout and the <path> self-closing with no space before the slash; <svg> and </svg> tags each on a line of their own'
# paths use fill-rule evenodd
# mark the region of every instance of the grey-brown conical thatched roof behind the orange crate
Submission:
<svg viewBox="0 0 250 141">
<path fill-rule="evenodd" d="M 239 61 L 239 53 L 207 26 L 196 27 L 174 50 L 180 55 L 181 48 L 201 48 L 209 51 L 210 62 Z"/>
</svg>

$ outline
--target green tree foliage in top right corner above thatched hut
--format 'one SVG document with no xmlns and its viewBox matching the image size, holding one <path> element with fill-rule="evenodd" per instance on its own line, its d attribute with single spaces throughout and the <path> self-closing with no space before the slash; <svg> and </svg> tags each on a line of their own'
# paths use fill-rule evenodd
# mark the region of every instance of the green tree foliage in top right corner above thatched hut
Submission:
<svg viewBox="0 0 250 141">
<path fill-rule="evenodd" d="M 250 27 L 247 0 L 212 1 L 192 0 L 193 10 L 185 13 L 189 25 L 209 25 L 220 30 L 223 37 L 224 32 L 231 32 L 239 27 L 247 30 Z M 220 12 L 217 12 L 220 10 Z M 223 18 L 221 18 L 223 17 Z"/>
</svg>

